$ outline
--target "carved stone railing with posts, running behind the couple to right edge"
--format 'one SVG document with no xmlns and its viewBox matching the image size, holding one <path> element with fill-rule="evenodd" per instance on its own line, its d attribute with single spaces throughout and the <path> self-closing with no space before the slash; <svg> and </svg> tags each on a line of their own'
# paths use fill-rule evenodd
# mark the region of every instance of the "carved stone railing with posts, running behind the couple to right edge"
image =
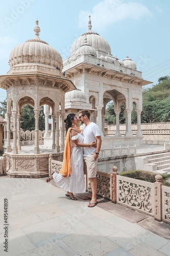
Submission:
<svg viewBox="0 0 170 256">
<path fill-rule="evenodd" d="M 59 173 L 62 162 L 52 158 L 49 161 L 49 175 Z M 117 175 L 116 166 L 112 169 L 109 174 L 97 171 L 99 196 L 170 224 L 170 187 L 162 185 L 161 175 L 156 175 L 155 183 L 151 183 Z M 86 191 L 91 191 L 86 175 L 85 181 Z"/>
</svg>

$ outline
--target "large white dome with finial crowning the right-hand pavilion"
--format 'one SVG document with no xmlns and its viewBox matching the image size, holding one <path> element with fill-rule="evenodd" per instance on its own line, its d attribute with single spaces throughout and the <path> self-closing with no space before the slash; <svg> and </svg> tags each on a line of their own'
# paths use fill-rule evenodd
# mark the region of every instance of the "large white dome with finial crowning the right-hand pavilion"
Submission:
<svg viewBox="0 0 170 256">
<path fill-rule="evenodd" d="M 102 54 L 104 56 L 111 54 L 109 43 L 98 33 L 94 33 L 91 28 L 91 19 L 89 16 L 88 31 L 82 34 L 78 39 L 76 39 L 76 41 L 74 41 L 70 49 L 71 56 L 75 55 L 76 51 L 84 45 L 84 35 L 87 37 L 87 44 L 97 52 L 98 57 L 100 57 Z"/>
</svg>

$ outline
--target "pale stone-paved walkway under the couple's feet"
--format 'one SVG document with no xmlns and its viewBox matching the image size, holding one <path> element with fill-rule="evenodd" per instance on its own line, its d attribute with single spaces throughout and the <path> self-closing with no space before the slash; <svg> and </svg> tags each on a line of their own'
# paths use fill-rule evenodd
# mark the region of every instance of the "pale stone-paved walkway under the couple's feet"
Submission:
<svg viewBox="0 0 170 256">
<path fill-rule="evenodd" d="M 88 208 L 45 178 L 2 176 L 0 191 L 1 256 L 170 255 L 170 225 L 134 210 L 100 198 Z"/>
</svg>

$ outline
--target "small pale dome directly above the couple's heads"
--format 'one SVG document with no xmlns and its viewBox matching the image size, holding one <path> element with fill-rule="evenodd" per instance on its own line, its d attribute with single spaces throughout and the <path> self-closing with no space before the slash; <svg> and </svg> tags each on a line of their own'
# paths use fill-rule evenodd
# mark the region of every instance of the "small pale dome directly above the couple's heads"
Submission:
<svg viewBox="0 0 170 256">
<path fill-rule="evenodd" d="M 79 89 L 67 92 L 65 102 L 86 102 L 86 95 Z"/>
</svg>

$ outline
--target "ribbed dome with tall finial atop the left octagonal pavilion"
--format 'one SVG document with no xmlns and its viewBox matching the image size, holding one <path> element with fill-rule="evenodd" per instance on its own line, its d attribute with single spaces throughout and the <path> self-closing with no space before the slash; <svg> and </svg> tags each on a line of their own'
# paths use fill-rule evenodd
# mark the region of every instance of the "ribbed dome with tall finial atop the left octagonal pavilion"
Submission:
<svg viewBox="0 0 170 256">
<path fill-rule="evenodd" d="M 41 63 L 55 68 L 58 67 L 62 71 L 63 61 L 59 52 L 39 38 L 38 20 L 36 20 L 34 31 L 34 39 L 27 40 L 12 49 L 9 57 L 10 67 L 12 68 L 20 63 Z"/>
</svg>

